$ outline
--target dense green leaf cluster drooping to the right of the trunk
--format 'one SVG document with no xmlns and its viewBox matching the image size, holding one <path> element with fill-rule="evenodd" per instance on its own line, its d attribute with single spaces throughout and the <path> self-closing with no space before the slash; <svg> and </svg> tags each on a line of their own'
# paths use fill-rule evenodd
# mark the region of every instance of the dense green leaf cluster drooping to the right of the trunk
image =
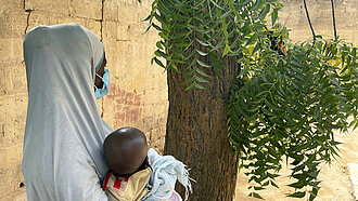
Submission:
<svg viewBox="0 0 358 201">
<path fill-rule="evenodd" d="M 230 97 L 230 142 L 242 151 L 255 189 L 274 184 L 285 158 L 296 180 L 289 186 L 310 186 L 312 200 L 318 165 L 338 156 L 333 131 L 358 126 L 357 48 L 321 40 L 287 45 L 286 55 L 263 50 L 255 62 Z M 305 191 L 290 197 L 303 198 Z"/>
</svg>

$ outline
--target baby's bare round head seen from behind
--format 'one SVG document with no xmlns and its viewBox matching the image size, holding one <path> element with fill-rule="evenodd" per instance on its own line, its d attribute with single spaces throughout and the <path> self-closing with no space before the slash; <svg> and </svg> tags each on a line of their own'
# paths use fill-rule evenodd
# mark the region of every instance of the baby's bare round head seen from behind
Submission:
<svg viewBox="0 0 358 201">
<path fill-rule="evenodd" d="M 103 143 L 105 160 L 117 175 L 131 175 L 148 160 L 146 139 L 136 128 L 120 128 Z"/>
</svg>

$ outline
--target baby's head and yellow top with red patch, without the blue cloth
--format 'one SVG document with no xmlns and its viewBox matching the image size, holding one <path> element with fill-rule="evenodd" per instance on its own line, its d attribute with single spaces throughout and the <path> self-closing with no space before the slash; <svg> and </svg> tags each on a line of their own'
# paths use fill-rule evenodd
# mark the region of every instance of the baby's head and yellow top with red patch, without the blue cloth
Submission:
<svg viewBox="0 0 358 201">
<path fill-rule="evenodd" d="M 110 201 L 140 200 L 148 192 L 152 169 L 144 134 L 136 128 L 122 128 L 103 143 L 110 171 L 103 183 Z"/>
</svg>

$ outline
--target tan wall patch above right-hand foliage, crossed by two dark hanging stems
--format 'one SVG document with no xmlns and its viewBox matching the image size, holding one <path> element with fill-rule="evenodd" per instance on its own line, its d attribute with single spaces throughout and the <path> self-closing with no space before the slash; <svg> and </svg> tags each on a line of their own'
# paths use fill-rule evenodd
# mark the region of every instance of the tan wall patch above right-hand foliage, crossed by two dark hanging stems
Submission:
<svg viewBox="0 0 358 201">
<path fill-rule="evenodd" d="M 312 38 L 303 0 L 282 0 L 283 10 L 280 22 L 291 28 L 290 37 L 294 42 L 302 42 Z M 306 0 L 316 35 L 323 39 L 334 38 L 332 5 L 330 0 Z M 337 36 L 358 44 L 358 1 L 334 0 Z"/>
</svg>

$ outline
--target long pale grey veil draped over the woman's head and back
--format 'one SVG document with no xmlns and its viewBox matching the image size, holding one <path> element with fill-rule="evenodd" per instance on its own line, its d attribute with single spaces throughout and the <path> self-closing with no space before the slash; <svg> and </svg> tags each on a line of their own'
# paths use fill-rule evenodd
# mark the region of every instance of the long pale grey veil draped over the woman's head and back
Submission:
<svg viewBox="0 0 358 201">
<path fill-rule="evenodd" d="M 103 44 L 78 24 L 38 26 L 24 39 L 28 109 L 23 174 L 29 201 L 106 201 L 94 69 Z"/>
</svg>

